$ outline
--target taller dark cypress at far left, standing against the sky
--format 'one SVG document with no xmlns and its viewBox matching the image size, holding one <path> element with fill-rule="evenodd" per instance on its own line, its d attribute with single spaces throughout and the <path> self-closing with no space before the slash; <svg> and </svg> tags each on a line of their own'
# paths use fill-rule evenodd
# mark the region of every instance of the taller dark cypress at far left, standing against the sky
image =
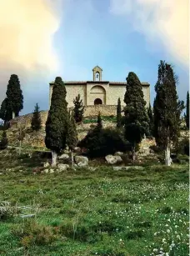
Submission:
<svg viewBox="0 0 190 256">
<path fill-rule="evenodd" d="M 19 112 L 23 109 L 23 92 L 20 88 L 18 75 L 11 75 L 6 94 L 8 109 L 13 113 L 12 118 L 18 117 Z"/>
</svg>

